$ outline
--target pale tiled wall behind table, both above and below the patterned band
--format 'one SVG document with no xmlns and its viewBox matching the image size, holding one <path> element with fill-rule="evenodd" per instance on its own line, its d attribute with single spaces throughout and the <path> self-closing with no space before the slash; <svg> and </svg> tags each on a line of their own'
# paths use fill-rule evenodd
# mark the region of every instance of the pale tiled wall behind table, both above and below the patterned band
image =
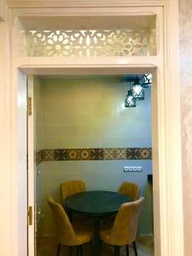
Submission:
<svg viewBox="0 0 192 256">
<path fill-rule="evenodd" d="M 120 79 L 114 76 L 40 79 L 44 148 L 151 147 L 150 90 L 145 90 L 145 100 L 138 102 L 137 108 L 125 108 L 128 84 Z M 143 166 L 143 172 L 125 173 L 124 166 Z M 42 163 L 44 235 L 54 232 L 46 197 L 54 195 L 60 201 L 62 181 L 81 178 L 87 189 L 117 191 L 123 181 L 129 180 L 138 183 L 143 194 L 151 172 L 151 160 Z M 140 232 L 144 230 L 141 225 Z"/>
</svg>

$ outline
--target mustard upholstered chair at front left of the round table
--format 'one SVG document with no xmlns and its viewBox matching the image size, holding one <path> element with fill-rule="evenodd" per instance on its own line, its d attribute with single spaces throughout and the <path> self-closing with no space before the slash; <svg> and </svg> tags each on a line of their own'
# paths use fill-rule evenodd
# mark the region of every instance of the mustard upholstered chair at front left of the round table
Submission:
<svg viewBox="0 0 192 256">
<path fill-rule="evenodd" d="M 50 195 L 48 196 L 47 201 L 53 212 L 58 233 L 56 256 L 59 256 L 60 254 L 61 245 L 69 248 L 69 255 L 72 253 L 72 248 L 77 247 L 77 256 L 79 255 L 79 252 L 80 255 L 83 256 L 82 245 L 91 242 L 92 240 L 93 233 L 91 228 L 87 225 L 72 225 L 67 217 L 67 213 L 59 203 L 56 203 Z"/>
</svg>

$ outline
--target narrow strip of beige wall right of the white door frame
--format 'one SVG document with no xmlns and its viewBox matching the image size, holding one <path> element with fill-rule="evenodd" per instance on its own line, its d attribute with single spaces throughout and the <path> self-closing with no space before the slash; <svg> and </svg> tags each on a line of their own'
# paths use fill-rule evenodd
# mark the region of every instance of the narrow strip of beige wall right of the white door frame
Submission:
<svg viewBox="0 0 192 256">
<path fill-rule="evenodd" d="M 179 1 L 185 256 L 192 254 L 192 1 Z"/>
</svg>

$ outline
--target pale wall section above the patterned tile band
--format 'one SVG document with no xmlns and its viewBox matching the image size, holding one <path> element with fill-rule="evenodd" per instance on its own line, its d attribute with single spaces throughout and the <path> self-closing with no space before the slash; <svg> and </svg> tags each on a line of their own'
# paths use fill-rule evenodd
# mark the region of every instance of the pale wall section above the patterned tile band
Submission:
<svg viewBox="0 0 192 256">
<path fill-rule="evenodd" d="M 151 147 L 150 90 L 125 108 L 121 77 L 41 79 L 44 148 Z"/>
</svg>

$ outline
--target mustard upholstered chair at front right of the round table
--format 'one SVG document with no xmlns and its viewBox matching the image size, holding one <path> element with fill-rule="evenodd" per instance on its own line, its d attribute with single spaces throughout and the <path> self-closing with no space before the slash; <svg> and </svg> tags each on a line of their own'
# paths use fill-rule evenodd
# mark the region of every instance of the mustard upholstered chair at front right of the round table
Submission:
<svg viewBox="0 0 192 256">
<path fill-rule="evenodd" d="M 100 239 L 115 248 L 114 255 L 119 256 L 119 247 L 125 246 L 126 256 L 129 256 L 129 245 L 132 243 L 134 253 L 137 256 L 136 236 L 137 224 L 143 207 L 144 198 L 127 202 L 120 206 L 114 219 L 113 226 L 101 228 Z"/>
</svg>

